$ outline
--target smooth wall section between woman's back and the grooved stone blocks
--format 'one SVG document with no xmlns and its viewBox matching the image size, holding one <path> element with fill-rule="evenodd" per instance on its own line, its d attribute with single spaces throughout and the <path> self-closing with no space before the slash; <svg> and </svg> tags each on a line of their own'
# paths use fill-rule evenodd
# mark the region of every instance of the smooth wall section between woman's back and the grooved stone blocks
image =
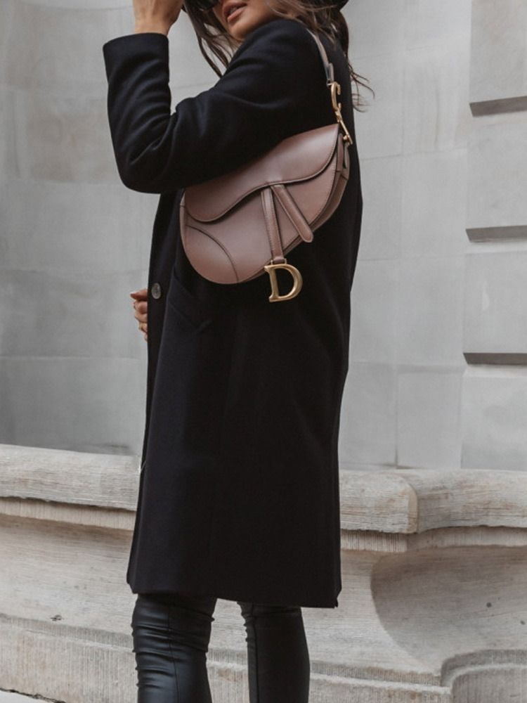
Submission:
<svg viewBox="0 0 527 703">
<path fill-rule="evenodd" d="M 364 219 L 341 466 L 458 468 L 462 453 L 470 0 L 354 0 Z"/>
</svg>

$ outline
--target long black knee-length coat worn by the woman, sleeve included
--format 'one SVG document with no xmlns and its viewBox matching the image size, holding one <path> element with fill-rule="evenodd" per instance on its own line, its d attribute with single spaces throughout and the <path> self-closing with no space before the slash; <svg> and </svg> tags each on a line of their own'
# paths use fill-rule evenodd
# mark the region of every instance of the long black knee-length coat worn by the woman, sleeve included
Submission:
<svg viewBox="0 0 527 703">
<path fill-rule="evenodd" d="M 322 37 L 355 140 L 346 58 Z M 318 48 L 277 18 L 256 27 L 209 90 L 170 112 L 169 40 L 103 46 L 108 116 L 125 186 L 160 193 L 148 278 L 148 389 L 126 581 L 133 593 L 335 607 L 341 591 L 337 444 L 362 195 L 351 175 L 312 243 L 287 254 L 299 295 L 268 275 L 213 283 L 181 245 L 183 188 L 283 138 L 334 122 Z M 280 272 L 285 278 L 280 283 Z M 291 279 L 278 270 L 282 293 Z"/>
</svg>

